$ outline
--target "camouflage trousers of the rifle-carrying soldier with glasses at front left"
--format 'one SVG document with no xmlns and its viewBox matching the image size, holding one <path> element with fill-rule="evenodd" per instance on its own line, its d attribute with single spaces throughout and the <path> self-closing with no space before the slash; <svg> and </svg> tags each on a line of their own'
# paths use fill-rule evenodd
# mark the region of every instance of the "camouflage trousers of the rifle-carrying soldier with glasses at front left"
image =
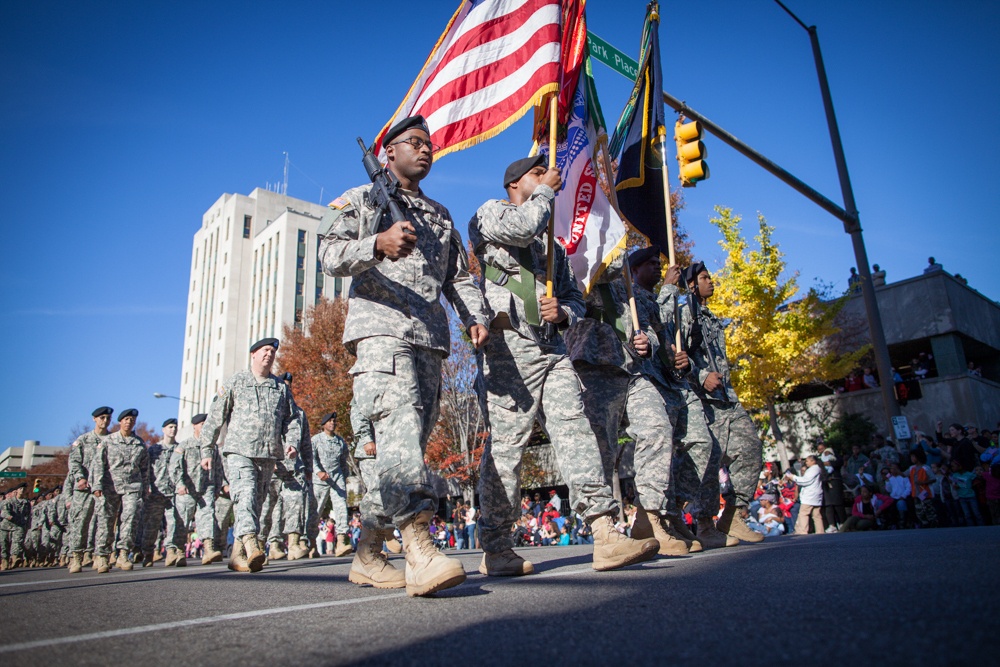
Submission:
<svg viewBox="0 0 1000 667">
<path fill-rule="evenodd" d="M 372 423 L 384 511 L 397 525 L 437 509 L 424 450 L 437 422 L 443 354 L 389 336 L 357 343 L 354 402 Z"/>
</svg>

